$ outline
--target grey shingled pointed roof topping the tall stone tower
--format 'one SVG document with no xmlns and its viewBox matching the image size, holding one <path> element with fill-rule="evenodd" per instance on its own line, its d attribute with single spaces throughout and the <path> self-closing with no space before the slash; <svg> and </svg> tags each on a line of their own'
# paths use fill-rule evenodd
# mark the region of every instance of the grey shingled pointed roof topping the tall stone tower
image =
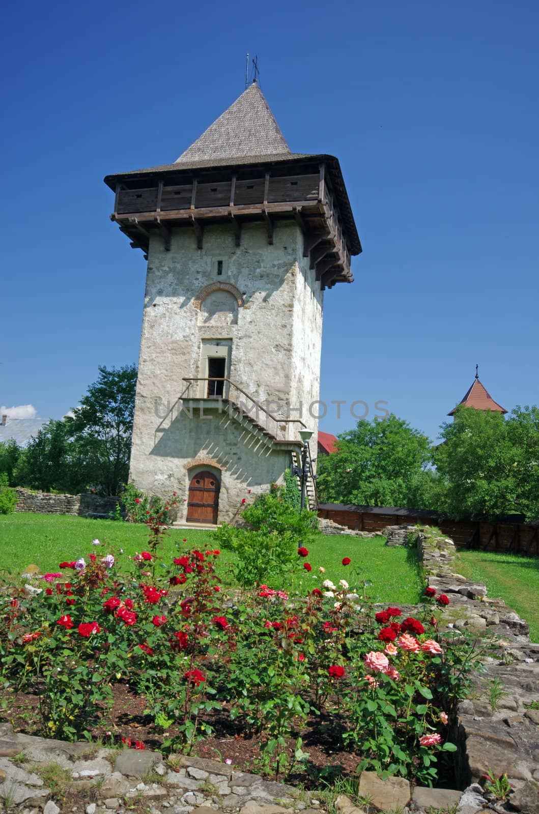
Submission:
<svg viewBox="0 0 539 814">
<path fill-rule="evenodd" d="M 264 94 L 256 82 L 236 99 L 176 160 L 176 164 L 253 155 L 291 155 Z"/>
</svg>

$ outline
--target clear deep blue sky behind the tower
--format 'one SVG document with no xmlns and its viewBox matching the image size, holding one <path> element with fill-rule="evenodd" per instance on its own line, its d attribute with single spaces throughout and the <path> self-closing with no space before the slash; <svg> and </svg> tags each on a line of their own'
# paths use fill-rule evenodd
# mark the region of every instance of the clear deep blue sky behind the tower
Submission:
<svg viewBox="0 0 539 814">
<path fill-rule="evenodd" d="M 434 439 L 479 362 L 506 409 L 539 403 L 538 30 L 524 0 L 8 4 L 0 404 L 59 418 L 137 361 L 145 264 L 103 176 L 175 160 L 246 51 L 291 150 L 339 157 L 362 239 L 326 293 L 321 398 Z"/>
</svg>

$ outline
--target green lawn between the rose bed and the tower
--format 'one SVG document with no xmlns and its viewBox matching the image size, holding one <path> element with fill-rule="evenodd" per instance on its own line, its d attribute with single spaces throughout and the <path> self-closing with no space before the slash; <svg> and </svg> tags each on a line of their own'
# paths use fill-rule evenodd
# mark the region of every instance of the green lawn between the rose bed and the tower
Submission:
<svg viewBox="0 0 539 814">
<path fill-rule="evenodd" d="M 198 529 L 173 529 L 164 542 L 161 554 L 172 558 L 179 549 L 193 546 L 213 548 L 212 532 Z M 99 549 L 91 545 L 99 539 Z M 183 542 L 186 540 L 186 542 Z M 330 579 L 347 580 L 351 588 L 358 580 L 369 580 L 367 591 L 376 602 L 417 602 L 423 590 L 415 549 L 386 548 L 384 538 L 363 540 L 357 537 L 318 535 L 309 545 L 309 557 L 313 566 L 310 574 L 301 570 L 288 579 L 284 589 L 305 593 Z M 121 523 L 112 520 L 89 520 L 70 517 L 67 514 L 0 514 L 0 570 L 6 570 L 13 578 L 24 572 L 31 563 L 40 570 L 56 571 L 62 560 L 87 557 L 91 551 L 103 554 L 141 552 L 147 547 L 146 527 L 140 523 Z M 344 557 L 352 559 L 343 566 Z M 221 565 L 234 562 L 234 555 L 223 552 Z M 303 561 L 302 561 L 303 562 Z M 319 567 L 326 568 L 321 574 Z"/>
</svg>

